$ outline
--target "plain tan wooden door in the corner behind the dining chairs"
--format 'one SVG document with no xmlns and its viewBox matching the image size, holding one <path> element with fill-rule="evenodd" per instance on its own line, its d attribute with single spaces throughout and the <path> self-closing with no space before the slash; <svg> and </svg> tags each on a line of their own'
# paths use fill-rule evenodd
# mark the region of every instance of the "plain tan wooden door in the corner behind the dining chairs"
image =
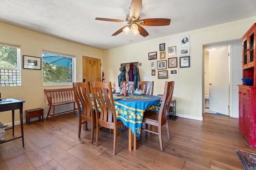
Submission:
<svg viewBox="0 0 256 170">
<path fill-rule="evenodd" d="M 101 59 L 82 57 L 83 79 L 86 82 L 101 82 Z"/>
</svg>

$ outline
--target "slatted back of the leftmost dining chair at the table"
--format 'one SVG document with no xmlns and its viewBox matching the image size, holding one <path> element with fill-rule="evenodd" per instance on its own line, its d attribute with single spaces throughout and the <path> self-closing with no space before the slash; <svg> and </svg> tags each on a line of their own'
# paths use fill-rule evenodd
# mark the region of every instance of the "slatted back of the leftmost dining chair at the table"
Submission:
<svg viewBox="0 0 256 170">
<path fill-rule="evenodd" d="M 94 118 L 92 101 L 90 99 L 90 84 L 88 82 L 76 82 L 73 83 L 73 89 L 79 116 L 92 116 Z"/>
</svg>

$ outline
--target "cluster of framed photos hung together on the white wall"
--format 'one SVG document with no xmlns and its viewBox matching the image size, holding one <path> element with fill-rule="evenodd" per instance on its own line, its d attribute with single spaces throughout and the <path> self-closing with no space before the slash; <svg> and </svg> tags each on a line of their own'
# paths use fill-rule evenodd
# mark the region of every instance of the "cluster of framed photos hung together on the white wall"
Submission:
<svg viewBox="0 0 256 170">
<path fill-rule="evenodd" d="M 190 38 L 189 35 L 180 37 L 180 48 L 177 46 L 166 48 L 165 43 L 159 44 L 159 52 L 148 53 L 149 68 L 152 76 L 168 78 L 178 76 L 179 68 L 190 67 Z M 159 56 L 159 57 L 158 57 Z"/>
</svg>

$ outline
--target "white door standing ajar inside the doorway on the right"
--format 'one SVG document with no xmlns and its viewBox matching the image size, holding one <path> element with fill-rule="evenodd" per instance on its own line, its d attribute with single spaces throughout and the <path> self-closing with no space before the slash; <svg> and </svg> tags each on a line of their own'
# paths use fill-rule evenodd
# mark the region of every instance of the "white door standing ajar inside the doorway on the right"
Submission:
<svg viewBox="0 0 256 170">
<path fill-rule="evenodd" d="M 209 51 L 209 110 L 229 115 L 228 47 Z"/>
</svg>

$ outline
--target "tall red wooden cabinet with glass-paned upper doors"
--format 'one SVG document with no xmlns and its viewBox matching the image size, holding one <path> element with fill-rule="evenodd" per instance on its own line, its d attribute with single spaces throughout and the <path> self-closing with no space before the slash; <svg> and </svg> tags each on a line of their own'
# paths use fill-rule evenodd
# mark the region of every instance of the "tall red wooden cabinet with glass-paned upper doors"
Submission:
<svg viewBox="0 0 256 170">
<path fill-rule="evenodd" d="M 242 37 L 243 78 L 254 78 L 253 86 L 239 87 L 239 129 L 250 147 L 256 147 L 256 23 Z"/>
</svg>

